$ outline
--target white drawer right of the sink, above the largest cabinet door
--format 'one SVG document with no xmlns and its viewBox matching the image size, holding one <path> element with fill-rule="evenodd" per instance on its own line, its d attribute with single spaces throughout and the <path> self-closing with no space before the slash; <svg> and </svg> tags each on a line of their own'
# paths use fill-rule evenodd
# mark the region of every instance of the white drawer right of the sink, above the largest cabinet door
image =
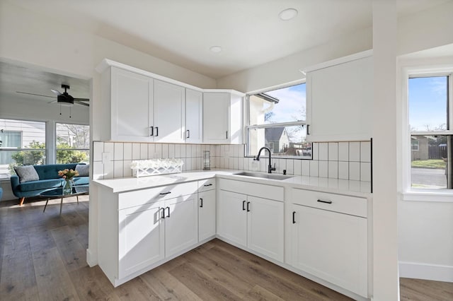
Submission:
<svg viewBox="0 0 453 301">
<path fill-rule="evenodd" d="M 367 199 L 326 192 L 292 189 L 292 203 L 325 209 L 352 216 L 367 217 Z"/>
</svg>

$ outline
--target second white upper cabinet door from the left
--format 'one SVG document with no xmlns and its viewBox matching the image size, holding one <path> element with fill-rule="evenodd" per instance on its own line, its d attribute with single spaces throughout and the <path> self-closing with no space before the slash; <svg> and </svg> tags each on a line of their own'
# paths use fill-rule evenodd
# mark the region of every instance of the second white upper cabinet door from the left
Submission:
<svg viewBox="0 0 453 301">
<path fill-rule="evenodd" d="M 154 80 L 154 142 L 184 142 L 185 89 Z"/>
</svg>

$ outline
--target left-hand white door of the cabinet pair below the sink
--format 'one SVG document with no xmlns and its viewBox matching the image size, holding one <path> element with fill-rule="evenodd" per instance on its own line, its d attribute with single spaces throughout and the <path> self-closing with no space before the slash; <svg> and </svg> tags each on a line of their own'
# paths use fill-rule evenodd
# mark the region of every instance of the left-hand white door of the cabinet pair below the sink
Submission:
<svg viewBox="0 0 453 301">
<path fill-rule="evenodd" d="M 247 245 L 247 196 L 221 190 L 217 202 L 217 233 L 242 246 Z"/>
</svg>

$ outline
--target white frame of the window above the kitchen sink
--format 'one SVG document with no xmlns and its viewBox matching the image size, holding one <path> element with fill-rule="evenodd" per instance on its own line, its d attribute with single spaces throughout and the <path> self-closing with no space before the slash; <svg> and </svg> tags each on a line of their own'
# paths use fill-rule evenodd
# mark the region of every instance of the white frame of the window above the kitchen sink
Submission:
<svg viewBox="0 0 453 301">
<path fill-rule="evenodd" d="M 303 126 L 304 129 L 306 130 L 306 125 L 307 125 L 307 122 L 306 122 L 306 117 L 305 117 L 305 120 L 297 120 L 297 121 L 294 121 L 294 122 L 276 122 L 276 123 L 273 123 L 273 124 L 250 124 L 250 97 L 252 95 L 256 95 L 256 94 L 260 94 L 260 93 L 268 93 L 270 91 L 273 91 L 273 90 L 280 90 L 280 89 L 284 89 L 284 88 L 289 88 L 289 87 L 292 87 L 294 85 L 301 85 L 301 84 L 306 84 L 306 79 L 302 79 L 302 80 L 299 80 L 299 81 L 292 81 L 290 83 L 285 83 L 285 84 L 282 84 L 282 85 L 275 85 L 273 87 L 270 87 L 270 88 L 265 88 L 265 89 L 261 89 L 261 90 L 255 90 L 255 91 L 252 91 L 252 92 L 249 92 L 249 93 L 246 93 L 246 97 L 245 97 L 245 101 L 244 101 L 244 110 L 243 112 L 245 112 L 245 120 L 244 120 L 244 129 L 243 129 L 243 136 L 245 137 L 245 144 L 246 144 L 246 148 L 245 148 L 245 157 L 246 158 L 253 158 L 255 157 L 256 155 L 251 155 L 250 154 L 250 130 L 251 129 L 268 129 L 268 128 L 272 128 L 272 127 L 286 127 L 286 126 Z M 306 87 L 305 87 L 306 88 Z M 311 144 L 311 149 L 313 149 L 313 143 L 310 143 Z M 301 157 L 301 156 L 295 156 L 295 155 L 277 155 L 277 156 L 273 156 L 273 158 L 279 158 L 279 159 L 293 159 L 293 160 L 313 160 L 313 153 L 311 153 L 311 158 L 307 158 L 307 157 Z"/>
</svg>

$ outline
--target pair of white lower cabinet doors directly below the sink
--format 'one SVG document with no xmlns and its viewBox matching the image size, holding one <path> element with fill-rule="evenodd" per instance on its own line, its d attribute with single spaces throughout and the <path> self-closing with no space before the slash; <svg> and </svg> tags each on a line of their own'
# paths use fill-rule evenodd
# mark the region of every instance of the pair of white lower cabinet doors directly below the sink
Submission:
<svg viewBox="0 0 453 301">
<path fill-rule="evenodd" d="M 283 261 L 283 202 L 221 190 L 218 207 L 220 237 Z"/>
</svg>

